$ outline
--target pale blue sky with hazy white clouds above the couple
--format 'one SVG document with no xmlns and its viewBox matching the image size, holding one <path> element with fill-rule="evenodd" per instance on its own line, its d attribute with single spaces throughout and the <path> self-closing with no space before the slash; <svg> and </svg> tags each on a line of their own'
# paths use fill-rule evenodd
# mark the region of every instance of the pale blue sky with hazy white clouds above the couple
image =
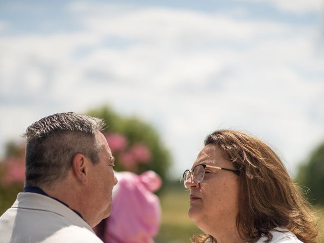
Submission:
<svg viewBox="0 0 324 243">
<path fill-rule="evenodd" d="M 223 128 L 292 175 L 324 139 L 324 2 L 0 1 L 0 155 L 39 118 L 109 104 L 161 134 L 172 177 Z"/>
</svg>

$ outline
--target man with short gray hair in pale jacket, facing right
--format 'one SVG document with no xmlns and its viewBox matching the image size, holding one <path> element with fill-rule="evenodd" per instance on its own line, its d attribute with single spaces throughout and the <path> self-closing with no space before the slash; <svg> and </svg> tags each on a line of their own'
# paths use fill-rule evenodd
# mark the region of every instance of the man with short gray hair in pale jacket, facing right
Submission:
<svg viewBox="0 0 324 243">
<path fill-rule="evenodd" d="M 26 130 L 24 192 L 0 217 L 0 242 L 102 242 L 117 183 L 102 119 L 58 113 Z"/>
</svg>

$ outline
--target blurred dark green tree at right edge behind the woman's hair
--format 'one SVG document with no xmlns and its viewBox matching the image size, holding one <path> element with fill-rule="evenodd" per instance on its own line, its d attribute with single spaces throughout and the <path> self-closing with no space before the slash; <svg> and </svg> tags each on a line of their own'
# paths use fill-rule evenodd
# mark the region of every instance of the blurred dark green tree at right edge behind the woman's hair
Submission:
<svg viewBox="0 0 324 243">
<path fill-rule="evenodd" d="M 300 166 L 297 180 L 310 189 L 306 197 L 311 204 L 324 206 L 324 142 L 311 153 L 307 163 Z"/>
</svg>

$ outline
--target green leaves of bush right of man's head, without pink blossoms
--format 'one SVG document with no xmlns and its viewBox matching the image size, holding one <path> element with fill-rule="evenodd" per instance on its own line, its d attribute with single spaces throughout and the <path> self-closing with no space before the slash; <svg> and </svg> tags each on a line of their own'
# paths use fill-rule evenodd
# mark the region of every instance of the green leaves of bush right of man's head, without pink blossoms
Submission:
<svg viewBox="0 0 324 243">
<path fill-rule="evenodd" d="M 161 142 L 156 130 L 150 125 L 137 117 L 123 117 L 118 115 L 108 106 L 103 106 L 97 109 L 93 109 L 87 112 L 89 115 L 103 118 L 107 124 L 105 133 L 118 134 L 124 136 L 127 139 L 126 151 L 134 151 L 136 145 L 142 144 L 147 147 L 150 153 L 149 161 L 145 163 L 138 163 L 136 170 L 129 170 L 123 167 L 123 155 L 118 151 L 113 152 L 116 157 L 116 163 L 114 170 L 123 171 L 129 170 L 140 174 L 147 170 L 155 171 L 163 181 L 167 179 L 167 172 L 171 165 L 171 156 L 167 148 Z M 106 137 L 110 146 L 109 135 Z M 111 146 L 110 146 L 111 147 Z M 139 146 L 137 146 L 139 148 Z"/>
</svg>

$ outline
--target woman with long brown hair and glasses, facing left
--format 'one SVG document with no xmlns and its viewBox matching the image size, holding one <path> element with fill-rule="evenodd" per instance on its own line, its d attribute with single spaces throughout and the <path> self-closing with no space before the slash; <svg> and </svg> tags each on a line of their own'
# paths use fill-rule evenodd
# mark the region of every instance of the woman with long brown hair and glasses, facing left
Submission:
<svg viewBox="0 0 324 243">
<path fill-rule="evenodd" d="M 205 232 L 192 242 L 319 242 L 315 217 L 275 152 L 250 134 L 210 134 L 192 170 L 189 217 Z"/>
</svg>

